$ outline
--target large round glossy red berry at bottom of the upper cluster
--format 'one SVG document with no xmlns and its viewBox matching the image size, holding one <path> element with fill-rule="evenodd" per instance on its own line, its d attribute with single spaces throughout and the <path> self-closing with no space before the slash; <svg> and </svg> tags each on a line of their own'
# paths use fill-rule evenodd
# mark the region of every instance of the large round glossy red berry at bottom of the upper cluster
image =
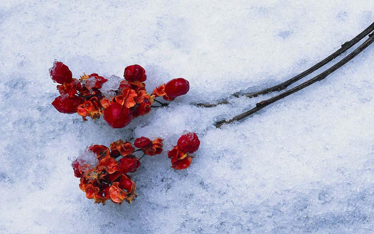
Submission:
<svg viewBox="0 0 374 234">
<path fill-rule="evenodd" d="M 129 108 L 119 103 L 112 103 L 105 108 L 104 119 L 112 128 L 123 128 L 132 121 L 132 113 Z"/>
</svg>

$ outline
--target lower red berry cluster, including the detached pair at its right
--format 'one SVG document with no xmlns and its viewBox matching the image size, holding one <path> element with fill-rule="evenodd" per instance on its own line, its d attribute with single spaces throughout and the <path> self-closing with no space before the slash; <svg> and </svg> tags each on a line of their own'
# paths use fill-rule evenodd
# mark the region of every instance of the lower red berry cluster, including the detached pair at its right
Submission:
<svg viewBox="0 0 374 234">
<path fill-rule="evenodd" d="M 104 145 L 89 146 L 83 156 L 71 163 L 74 176 L 80 178 L 79 188 L 95 203 L 105 204 L 107 200 L 119 204 L 123 201 L 132 203 L 137 194 L 132 175 L 129 173 L 137 170 L 144 155 L 161 154 L 162 141 L 161 138 L 153 141 L 147 137 L 137 138 L 134 141 L 137 150 L 130 142 L 123 140 L 110 143 L 110 148 Z M 168 153 L 172 162 L 171 167 L 177 170 L 187 168 L 191 164 L 192 156 L 189 154 L 195 152 L 199 145 L 200 141 L 195 133 L 182 135 L 177 146 Z M 138 151 L 144 153 L 140 158 L 133 155 Z"/>
</svg>

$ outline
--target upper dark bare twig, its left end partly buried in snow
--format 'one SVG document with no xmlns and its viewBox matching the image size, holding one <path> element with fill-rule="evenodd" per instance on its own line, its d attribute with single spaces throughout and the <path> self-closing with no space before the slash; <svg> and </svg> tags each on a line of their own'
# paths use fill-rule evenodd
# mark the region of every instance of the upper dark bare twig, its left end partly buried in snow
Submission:
<svg viewBox="0 0 374 234">
<path fill-rule="evenodd" d="M 269 92 L 274 92 L 274 91 L 278 91 L 279 92 L 279 91 L 287 88 L 292 83 L 295 83 L 296 81 L 304 78 L 305 76 L 307 76 L 307 75 L 311 74 L 312 72 L 315 72 L 316 70 L 318 70 L 321 67 L 325 66 L 326 64 L 328 64 L 329 62 L 331 62 L 332 60 L 334 60 L 334 58 L 337 58 L 339 55 L 343 54 L 349 48 L 351 48 L 352 46 L 354 46 L 361 39 L 363 39 L 364 37 L 366 37 L 373 30 L 374 30 L 374 22 L 369 27 L 367 27 L 364 31 L 362 31 L 360 34 L 358 34 L 356 37 L 354 37 L 352 40 L 350 40 L 348 42 L 345 42 L 343 45 L 341 45 L 340 49 L 338 49 L 337 51 L 335 51 L 334 53 L 332 53 L 331 55 L 329 55 L 328 57 L 326 57 L 324 60 L 320 61 L 319 63 L 317 63 L 314 66 L 310 67 L 309 69 L 305 70 L 304 72 L 301 72 L 297 76 L 294 76 L 294 77 L 292 77 L 289 80 L 286 80 L 285 82 L 282 82 L 282 83 L 280 83 L 278 85 L 272 86 L 272 87 L 267 88 L 267 89 L 263 89 L 261 91 L 252 92 L 252 93 L 248 93 L 248 94 L 232 94 L 232 96 L 233 97 L 246 96 L 246 97 L 252 98 L 252 97 L 257 97 L 258 95 L 267 94 Z M 215 107 L 215 106 L 218 106 L 219 104 L 227 104 L 227 103 L 229 103 L 228 98 L 225 99 L 225 100 L 223 100 L 223 101 L 218 101 L 218 102 L 212 103 L 212 104 L 197 103 L 195 105 L 196 106 L 202 106 L 202 107 Z"/>
</svg>

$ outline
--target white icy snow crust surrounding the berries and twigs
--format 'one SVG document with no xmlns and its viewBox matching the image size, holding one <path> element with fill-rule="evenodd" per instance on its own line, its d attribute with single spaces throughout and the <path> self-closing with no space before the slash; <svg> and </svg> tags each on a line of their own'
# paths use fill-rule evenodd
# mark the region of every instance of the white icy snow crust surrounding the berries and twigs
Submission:
<svg viewBox="0 0 374 234">
<path fill-rule="evenodd" d="M 374 45 L 327 79 L 251 118 L 213 123 L 264 98 L 212 101 L 298 74 L 374 21 L 374 1 L 1 1 L 0 233 L 374 233 Z M 50 104 L 53 60 L 75 78 L 147 71 L 190 92 L 124 129 Z M 246 109 L 247 108 L 247 109 Z M 191 167 L 166 152 L 201 140 Z M 68 158 L 91 144 L 162 137 L 142 159 L 133 204 L 93 204 Z"/>
</svg>

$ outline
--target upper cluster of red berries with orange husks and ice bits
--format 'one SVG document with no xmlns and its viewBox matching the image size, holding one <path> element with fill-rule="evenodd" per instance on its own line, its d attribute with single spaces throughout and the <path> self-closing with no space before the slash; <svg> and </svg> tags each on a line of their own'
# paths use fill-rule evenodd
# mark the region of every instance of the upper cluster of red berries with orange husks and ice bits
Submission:
<svg viewBox="0 0 374 234">
<path fill-rule="evenodd" d="M 175 97 L 184 95 L 190 89 L 190 84 L 183 78 L 172 79 L 168 83 L 154 89 L 152 94 L 145 90 L 144 81 L 147 79 L 145 70 L 139 65 L 125 68 L 124 80 L 116 90 L 115 96 L 107 98 L 100 91 L 107 82 L 96 73 L 80 76 L 75 79 L 69 68 L 62 62 L 55 61 L 50 69 L 50 76 L 59 83 L 57 89 L 61 95 L 55 98 L 52 105 L 61 113 L 78 113 L 86 121 L 86 117 L 97 119 L 104 115 L 104 120 L 113 128 L 123 128 L 132 119 L 150 112 L 156 97 L 172 101 Z"/>
</svg>

